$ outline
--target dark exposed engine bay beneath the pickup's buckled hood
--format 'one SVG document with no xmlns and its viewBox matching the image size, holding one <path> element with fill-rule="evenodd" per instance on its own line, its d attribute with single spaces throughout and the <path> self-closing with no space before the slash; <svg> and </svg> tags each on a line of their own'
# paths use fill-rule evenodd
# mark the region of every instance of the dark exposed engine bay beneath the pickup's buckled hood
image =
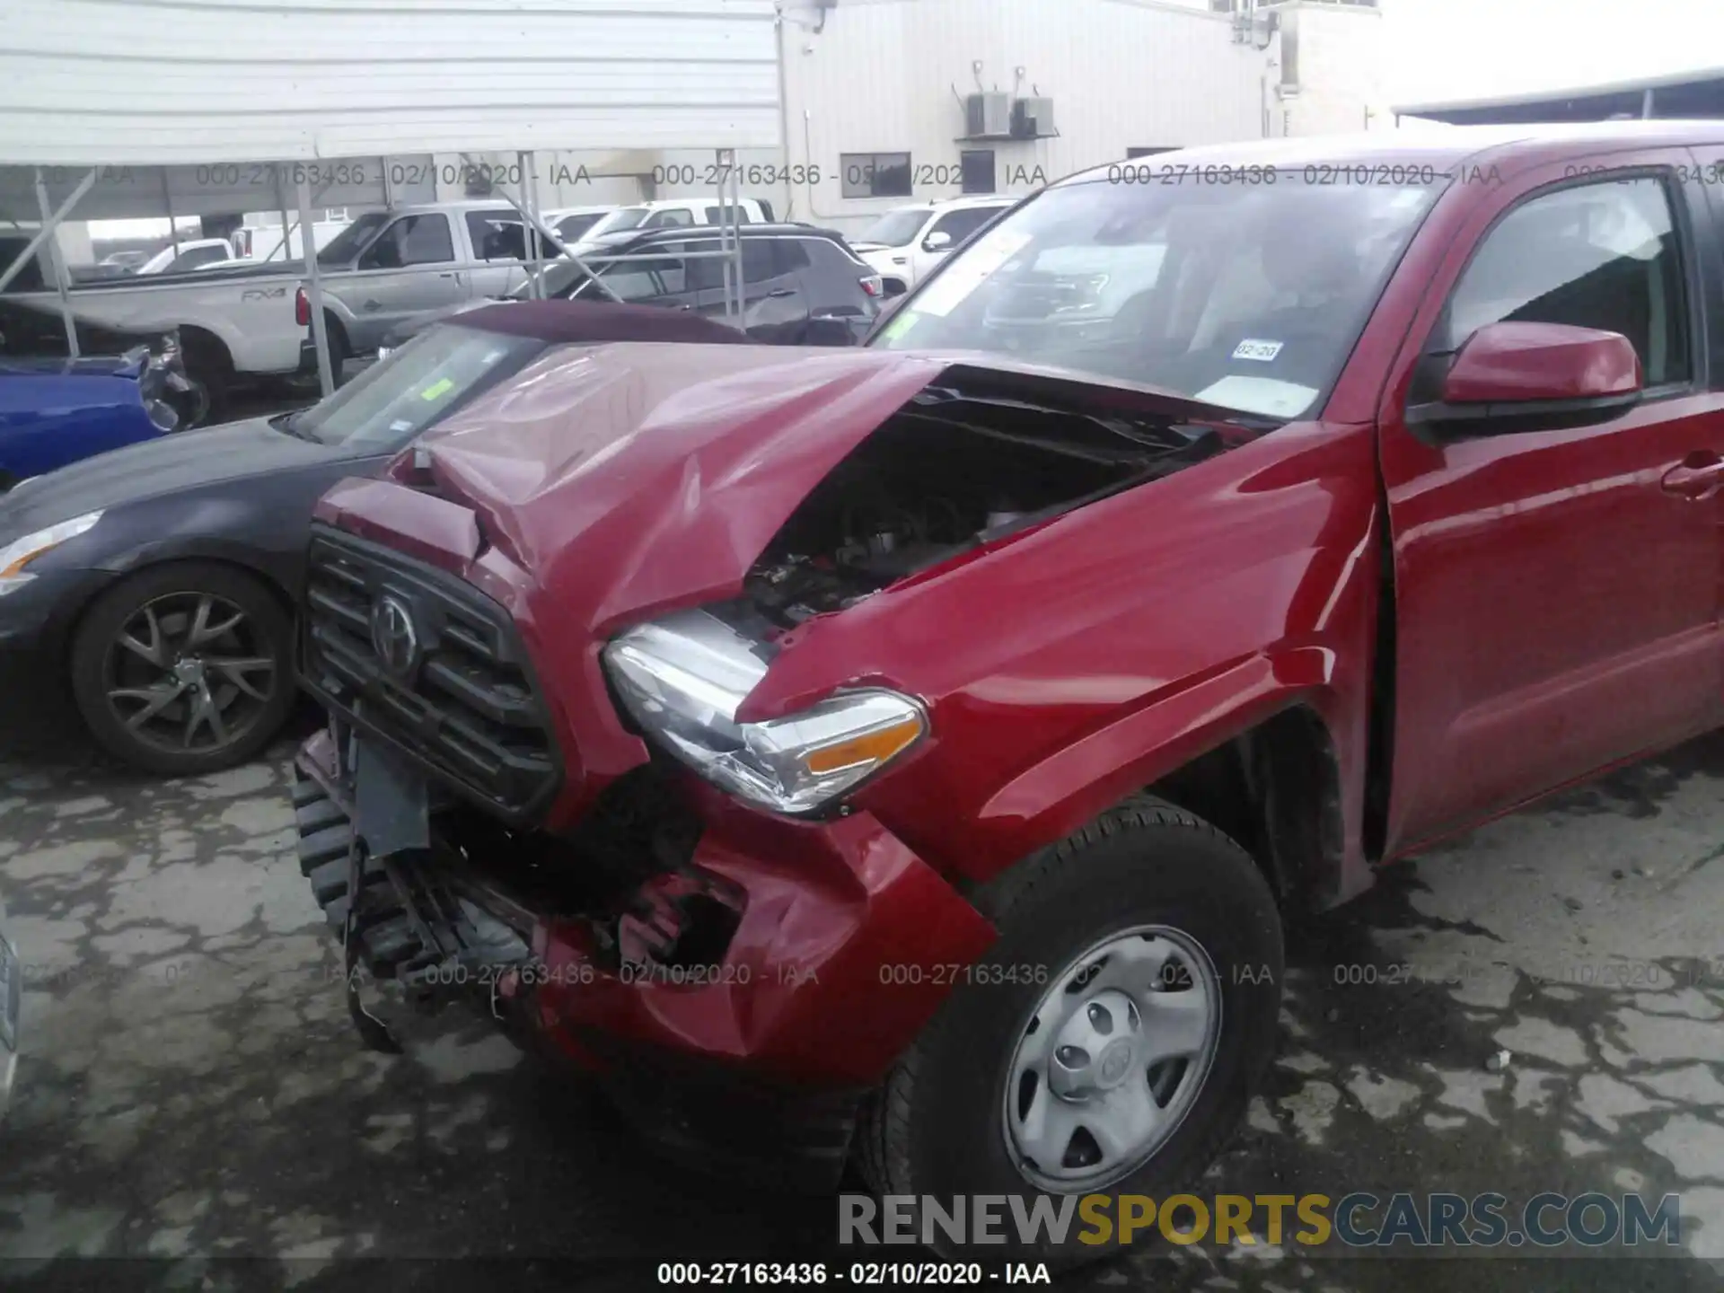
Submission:
<svg viewBox="0 0 1724 1293">
<path fill-rule="evenodd" d="M 1210 426 L 946 378 L 852 450 L 750 569 L 748 600 L 772 624 L 843 610 L 1229 447 Z"/>
</svg>

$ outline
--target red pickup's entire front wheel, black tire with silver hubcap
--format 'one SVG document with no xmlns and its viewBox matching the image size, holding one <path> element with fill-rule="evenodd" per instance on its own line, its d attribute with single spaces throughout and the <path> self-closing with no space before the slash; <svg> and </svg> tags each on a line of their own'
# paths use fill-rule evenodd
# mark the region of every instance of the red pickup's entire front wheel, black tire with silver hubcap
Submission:
<svg viewBox="0 0 1724 1293">
<path fill-rule="evenodd" d="M 1141 798 L 1014 867 L 978 907 L 1000 940 L 867 1112 L 871 1184 L 945 1209 L 1046 1195 L 1055 1214 L 1062 1196 L 1190 1186 L 1274 1046 L 1281 922 L 1259 867 L 1212 826 Z M 1117 1231 L 1079 1243 L 1083 1227 L 1072 1215 L 1064 1243 L 1045 1231 L 1007 1243 L 1059 1264 L 1117 1250 Z"/>
</svg>

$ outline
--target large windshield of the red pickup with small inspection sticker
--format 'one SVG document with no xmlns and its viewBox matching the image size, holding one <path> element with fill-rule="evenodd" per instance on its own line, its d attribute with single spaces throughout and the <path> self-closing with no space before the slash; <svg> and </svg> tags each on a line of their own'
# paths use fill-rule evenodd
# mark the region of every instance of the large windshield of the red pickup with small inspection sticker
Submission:
<svg viewBox="0 0 1724 1293">
<path fill-rule="evenodd" d="M 1240 171 L 1253 179 L 1050 188 L 953 255 L 872 345 L 993 352 L 1281 421 L 1309 414 L 1446 179 Z"/>
</svg>

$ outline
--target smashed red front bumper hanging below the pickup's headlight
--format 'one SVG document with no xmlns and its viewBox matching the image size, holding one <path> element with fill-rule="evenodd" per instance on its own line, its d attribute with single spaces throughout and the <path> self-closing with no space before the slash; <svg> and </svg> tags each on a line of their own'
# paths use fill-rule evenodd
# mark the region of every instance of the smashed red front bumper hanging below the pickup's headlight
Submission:
<svg viewBox="0 0 1724 1293">
<path fill-rule="evenodd" d="M 429 848 L 369 857 L 345 748 L 345 731 L 302 748 L 295 812 L 302 869 L 336 936 L 352 931 L 360 979 L 421 1009 L 479 1003 L 709 1169 L 836 1184 L 860 1098 L 995 936 L 871 815 L 779 819 L 691 774 L 672 774 L 676 803 L 650 809 L 645 833 L 583 824 L 662 853 L 621 895 L 510 872 L 500 848 L 552 845 L 464 836 L 472 819 L 434 798 Z M 683 826 L 691 841 L 667 843 Z"/>
</svg>

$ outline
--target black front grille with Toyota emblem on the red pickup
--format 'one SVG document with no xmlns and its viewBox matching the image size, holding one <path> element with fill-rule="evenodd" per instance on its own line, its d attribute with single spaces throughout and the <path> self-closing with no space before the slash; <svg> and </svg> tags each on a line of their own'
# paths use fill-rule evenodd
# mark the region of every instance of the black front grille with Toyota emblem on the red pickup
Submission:
<svg viewBox="0 0 1724 1293">
<path fill-rule="evenodd" d="M 390 662 L 374 633 L 386 602 L 412 628 L 412 648 L 397 634 Z M 509 821 L 526 821 L 555 793 L 557 743 L 531 664 L 509 612 L 479 590 L 314 526 L 303 619 L 307 688 L 362 733 Z"/>
</svg>

